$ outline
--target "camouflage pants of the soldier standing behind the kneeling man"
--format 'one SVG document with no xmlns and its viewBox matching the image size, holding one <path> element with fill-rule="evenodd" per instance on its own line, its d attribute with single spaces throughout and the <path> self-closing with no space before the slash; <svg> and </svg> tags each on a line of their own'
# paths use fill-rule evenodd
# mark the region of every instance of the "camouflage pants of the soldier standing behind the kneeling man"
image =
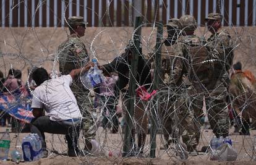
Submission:
<svg viewBox="0 0 256 165">
<path fill-rule="evenodd" d="M 82 132 L 85 142 L 90 142 L 96 136 L 96 122 L 92 116 L 92 98 L 88 91 L 77 91 L 74 92 L 75 98 L 77 99 L 77 104 L 79 106 L 80 112 L 83 116 L 82 120 Z"/>
</svg>

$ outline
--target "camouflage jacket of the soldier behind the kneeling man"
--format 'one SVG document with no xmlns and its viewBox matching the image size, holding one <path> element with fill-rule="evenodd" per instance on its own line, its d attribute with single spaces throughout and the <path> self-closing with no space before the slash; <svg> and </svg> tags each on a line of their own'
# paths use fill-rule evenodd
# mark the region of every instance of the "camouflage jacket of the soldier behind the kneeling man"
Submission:
<svg viewBox="0 0 256 165">
<path fill-rule="evenodd" d="M 90 57 L 88 56 L 85 44 L 80 41 L 79 37 L 75 34 L 70 35 L 69 38 L 62 43 L 58 48 L 59 72 L 67 75 L 72 69 L 79 69 L 85 66 Z M 79 81 L 79 76 L 74 80 L 71 89 L 83 88 L 82 83 Z"/>
</svg>

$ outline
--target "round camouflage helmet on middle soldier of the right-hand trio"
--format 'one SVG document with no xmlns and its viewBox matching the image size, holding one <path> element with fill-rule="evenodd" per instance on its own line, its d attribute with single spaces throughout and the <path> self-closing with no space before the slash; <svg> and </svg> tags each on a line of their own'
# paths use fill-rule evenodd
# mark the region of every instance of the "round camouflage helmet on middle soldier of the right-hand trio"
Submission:
<svg viewBox="0 0 256 165">
<path fill-rule="evenodd" d="M 186 28 L 186 30 L 195 30 L 197 28 L 197 21 L 192 15 L 183 15 L 179 19 L 179 28 Z"/>
</svg>

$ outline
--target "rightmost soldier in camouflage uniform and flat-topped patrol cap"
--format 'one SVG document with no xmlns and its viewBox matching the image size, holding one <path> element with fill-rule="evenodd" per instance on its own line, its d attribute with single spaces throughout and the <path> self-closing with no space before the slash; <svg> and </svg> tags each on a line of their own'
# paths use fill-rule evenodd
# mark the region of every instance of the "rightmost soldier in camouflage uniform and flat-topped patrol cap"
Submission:
<svg viewBox="0 0 256 165">
<path fill-rule="evenodd" d="M 213 56 L 213 73 L 205 96 L 208 119 L 216 137 L 226 137 L 229 133 L 228 100 L 229 69 L 233 63 L 233 41 L 228 32 L 221 29 L 223 15 L 210 13 L 205 19 L 212 33 L 208 38 L 208 49 Z"/>
</svg>

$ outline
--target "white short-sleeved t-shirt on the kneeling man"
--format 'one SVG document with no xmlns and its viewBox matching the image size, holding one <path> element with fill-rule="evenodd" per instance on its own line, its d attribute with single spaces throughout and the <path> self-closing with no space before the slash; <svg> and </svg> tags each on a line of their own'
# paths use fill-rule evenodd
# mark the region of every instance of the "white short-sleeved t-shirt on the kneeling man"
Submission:
<svg viewBox="0 0 256 165">
<path fill-rule="evenodd" d="M 82 118 L 70 89 L 72 77 L 63 75 L 47 80 L 33 91 L 32 108 L 44 108 L 51 121 Z"/>
</svg>

